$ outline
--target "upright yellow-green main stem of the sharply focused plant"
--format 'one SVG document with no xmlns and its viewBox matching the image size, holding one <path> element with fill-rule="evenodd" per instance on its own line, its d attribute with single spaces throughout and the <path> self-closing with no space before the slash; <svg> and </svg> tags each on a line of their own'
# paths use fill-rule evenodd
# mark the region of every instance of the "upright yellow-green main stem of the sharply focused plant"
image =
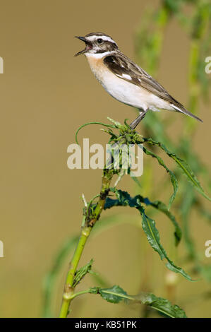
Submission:
<svg viewBox="0 0 211 332">
<path fill-rule="evenodd" d="M 74 298 L 73 282 L 75 278 L 76 269 L 78 267 L 80 257 L 83 253 L 85 243 L 87 242 L 87 239 L 90 236 L 92 227 L 95 225 L 96 221 L 100 218 L 100 215 L 103 211 L 104 203 L 106 201 L 107 195 L 109 194 L 109 186 L 113 175 L 114 173 L 112 172 L 112 170 L 104 170 L 102 176 L 102 188 L 100 191 L 100 198 L 99 201 L 97 202 L 95 211 L 94 213 L 92 213 L 91 209 L 88 208 L 86 216 L 85 218 L 83 218 L 80 238 L 76 250 L 73 254 L 73 259 L 71 261 L 71 265 L 66 277 L 66 283 L 64 285 L 64 293 L 62 297 L 62 304 L 61 304 L 61 311 L 59 314 L 59 318 L 66 318 L 66 316 L 68 315 L 68 310 L 71 304 L 71 300 L 73 300 Z"/>
</svg>

